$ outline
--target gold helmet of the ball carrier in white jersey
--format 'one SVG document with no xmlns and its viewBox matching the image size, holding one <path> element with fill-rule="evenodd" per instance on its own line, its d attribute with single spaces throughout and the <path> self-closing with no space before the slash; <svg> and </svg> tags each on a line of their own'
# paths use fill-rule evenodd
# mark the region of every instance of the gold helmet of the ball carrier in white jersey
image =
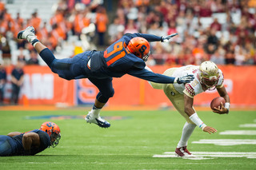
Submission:
<svg viewBox="0 0 256 170">
<path fill-rule="evenodd" d="M 212 89 L 218 84 L 219 77 L 218 66 L 214 62 L 204 61 L 199 66 L 199 80 L 208 89 Z"/>
</svg>

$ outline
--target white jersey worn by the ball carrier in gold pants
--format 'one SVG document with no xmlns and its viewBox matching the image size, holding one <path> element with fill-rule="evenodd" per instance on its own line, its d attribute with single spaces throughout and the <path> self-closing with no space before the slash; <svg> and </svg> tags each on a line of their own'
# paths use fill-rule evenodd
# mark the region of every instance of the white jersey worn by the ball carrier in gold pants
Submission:
<svg viewBox="0 0 256 170">
<path fill-rule="evenodd" d="M 216 85 L 216 88 L 221 88 L 223 86 L 224 77 L 222 70 L 218 70 L 220 77 L 218 79 L 218 84 Z M 173 77 L 183 77 L 189 74 L 194 75 L 194 81 L 186 83 L 186 85 L 174 83 L 174 88 L 178 91 L 178 93 L 185 93 L 187 96 L 193 98 L 195 95 L 204 92 L 204 90 L 202 89 L 202 85 L 199 81 L 198 72 L 199 65 L 186 65 L 175 69 L 174 73 L 172 74 Z"/>
</svg>

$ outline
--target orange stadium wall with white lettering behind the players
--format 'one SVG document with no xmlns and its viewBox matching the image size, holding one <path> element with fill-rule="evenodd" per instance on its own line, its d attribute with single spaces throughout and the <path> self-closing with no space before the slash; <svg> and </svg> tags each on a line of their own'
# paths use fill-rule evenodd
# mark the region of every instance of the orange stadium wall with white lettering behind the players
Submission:
<svg viewBox="0 0 256 170">
<path fill-rule="evenodd" d="M 168 66 L 152 66 L 155 73 L 163 73 Z M 256 66 L 219 65 L 224 73 L 224 85 L 230 94 L 232 105 L 256 106 Z M 10 73 L 7 68 L 6 102 L 10 98 Z M 88 79 L 66 81 L 51 72 L 46 66 L 24 67 L 25 79 L 20 93 L 20 104 L 26 105 L 89 105 L 94 103 L 98 89 Z M 114 78 L 114 97 L 108 105 L 171 105 L 162 90 L 152 89 L 147 81 L 130 75 Z M 207 91 L 194 98 L 194 105 L 210 105 L 217 97 L 216 90 Z"/>
</svg>

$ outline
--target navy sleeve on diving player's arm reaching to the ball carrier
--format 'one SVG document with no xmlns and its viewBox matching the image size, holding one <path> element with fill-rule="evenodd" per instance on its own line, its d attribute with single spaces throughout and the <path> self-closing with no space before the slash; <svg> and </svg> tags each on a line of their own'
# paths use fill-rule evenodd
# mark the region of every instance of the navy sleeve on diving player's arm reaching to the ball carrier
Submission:
<svg viewBox="0 0 256 170">
<path fill-rule="evenodd" d="M 172 84 L 174 83 L 174 79 L 175 79 L 175 77 L 168 77 L 159 73 L 153 73 L 148 71 L 147 69 L 132 69 L 128 72 L 128 74 L 134 77 L 142 78 L 143 80 L 146 80 L 146 81 L 153 81 L 156 83 L 164 83 L 164 84 L 168 84 L 168 83 Z"/>
</svg>

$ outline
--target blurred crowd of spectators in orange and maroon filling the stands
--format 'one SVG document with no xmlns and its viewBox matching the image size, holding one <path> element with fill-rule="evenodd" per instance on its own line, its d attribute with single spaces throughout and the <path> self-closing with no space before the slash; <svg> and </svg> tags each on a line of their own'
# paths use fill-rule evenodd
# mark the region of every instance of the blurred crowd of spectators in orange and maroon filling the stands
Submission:
<svg viewBox="0 0 256 170">
<path fill-rule="evenodd" d="M 109 3 L 109 2 L 106 2 Z M 112 2 L 113 3 L 113 2 Z M 59 0 L 50 21 L 42 21 L 37 10 L 30 18 L 15 18 L 0 1 L 0 49 L 10 58 L 9 34 L 17 44 L 18 61 L 38 65 L 38 54 L 26 41 L 16 40 L 18 31 L 34 26 L 38 39 L 53 52 L 62 49 L 70 36 L 86 34 L 105 48 L 126 33 L 164 36 L 178 33 L 171 43 L 153 42 L 148 65 L 199 65 L 211 60 L 218 65 L 256 63 L 256 11 L 254 0 L 119 0 L 107 11 L 98 0 Z M 113 5 L 113 4 L 111 4 Z M 218 16 L 222 16 L 222 21 Z M 97 41 L 95 41 L 97 40 Z M 29 49 L 29 53 L 23 53 Z M 71 57 L 71 56 L 70 56 Z"/>
</svg>

